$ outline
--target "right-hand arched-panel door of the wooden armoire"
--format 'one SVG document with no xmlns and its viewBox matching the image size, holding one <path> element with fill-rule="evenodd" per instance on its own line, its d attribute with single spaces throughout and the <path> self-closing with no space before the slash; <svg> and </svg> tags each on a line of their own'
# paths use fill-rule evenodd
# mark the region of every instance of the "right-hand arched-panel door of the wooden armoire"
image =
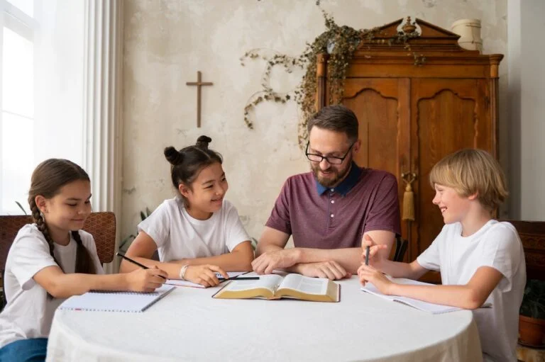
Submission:
<svg viewBox="0 0 545 362">
<path fill-rule="evenodd" d="M 485 81 L 480 79 L 415 79 L 412 81 L 412 169 L 417 220 L 413 225 L 411 257 L 424 251 L 441 231 L 443 217 L 431 200 L 431 168 L 458 149 L 480 148 L 492 152 L 493 130 L 488 115 Z"/>
</svg>

